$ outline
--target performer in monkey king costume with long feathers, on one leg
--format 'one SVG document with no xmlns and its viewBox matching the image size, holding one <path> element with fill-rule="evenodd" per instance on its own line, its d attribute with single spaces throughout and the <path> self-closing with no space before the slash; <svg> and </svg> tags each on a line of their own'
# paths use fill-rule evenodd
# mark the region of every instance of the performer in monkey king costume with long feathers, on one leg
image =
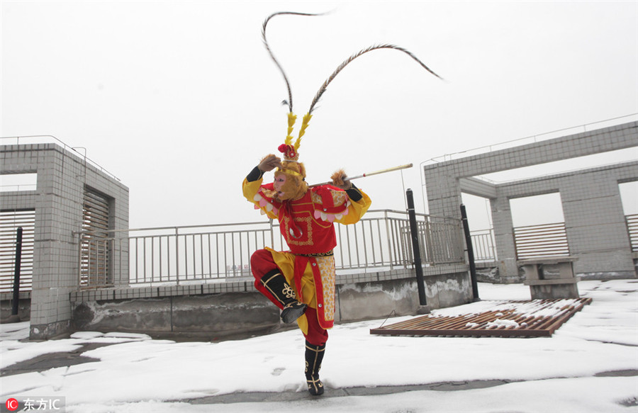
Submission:
<svg viewBox="0 0 638 413">
<path fill-rule="evenodd" d="M 306 168 L 299 162 L 298 149 L 301 137 L 308 128 L 313 108 L 328 84 L 355 58 L 377 49 L 394 49 L 404 52 L 422 67 L 432 72 L 407 50 L 395 45 L 376 45 L 361 50 L 345 60 L 321 86 L 310 110 L 303 116 L 299 135 L 293 144 L 292 93 L 288 78 L 276 60 L 266 39 L 266 27 L 271 18 L 278 15 L 317 16 L 310 13 L 279 12 L 269 16 L 262 26 L 262 38 L 270 57 L 286 81 L 289 100 L 288 135 L 279 152 L 284 160 L 274 154 L 264 157 L 242 183 L 244 197 L 272 220 L 279 221 L 279 229 L 286 239 L 289 251 L 274 251 L 269 247 L 254 251 L 250 259 L 255 287 L 281 310 L 285 323 L 296 321 L 306 338 L 306 383 L 311 395 L 324 392 L 319 380 L 319 369 L 328 340 L 328 329 L 335 320 L 335 259 L 332 249 L 337 245 L 335 222 L 354 224 L 370 207 L 371 200 L 354 186 L 344 171 L 332 174 L 332 184 L 308 186 Z M 276 168 L 276 169 L 275 169 Z M 262 184 L 265 172 L 274 172 L 274 182 Z"/>
</svg>

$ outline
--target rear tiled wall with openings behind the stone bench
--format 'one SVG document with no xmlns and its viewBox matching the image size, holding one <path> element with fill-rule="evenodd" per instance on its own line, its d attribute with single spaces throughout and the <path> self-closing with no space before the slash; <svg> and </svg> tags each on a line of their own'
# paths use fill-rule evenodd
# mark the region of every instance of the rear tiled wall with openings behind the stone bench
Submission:
<svg viewBox="0 0 638 413">
<path fill-rule="evenodd" d="M 578 261 L 581 278 L 635 276 L 632 248 L 622 210 L 618 183 L 638 179 L 638 161 L 544 176 L 498 186 L 491 200 L 499 257 L 514 256 L 509 200 L 522 196 L 560 193 L 569 251 Z"/>
</svg>

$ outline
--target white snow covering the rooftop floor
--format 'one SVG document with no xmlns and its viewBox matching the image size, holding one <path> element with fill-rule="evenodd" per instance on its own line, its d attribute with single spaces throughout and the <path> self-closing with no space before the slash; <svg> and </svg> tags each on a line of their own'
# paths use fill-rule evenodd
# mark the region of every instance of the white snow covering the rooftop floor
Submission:
<svg viewBox="0 0 638 413">
<path fill-rule="evenodd" d="M 79 332 L 29 342 L 28 323 L 19 323 L 1 325 L 3 368 L 84 344 L 110 345 L 83 353 L 96 362 L 1 377 L 0 402 L 65 397 L 69 413 L 636 412 L 638 376 L 595 375 L 638 370 L 638 281 L 581 281 L 578 289 L 593 302 L 550 338 L 376 336 L 369 329 L 384 320 L 339 324 L 330 331 L 321 370 L 325 396 L 346 387 L 508 380 L 493 387 L 189 404 L 184 400 L 228 393 L 306 392 L 303 336 L 291 330 L 239 341 L 177 343 L 145 334 Z M 481 283 L 478 290 L 483 301 L 435 315 L 481 312 L 489 300 L 530 299 L 525 285 Z"/>
</svg>

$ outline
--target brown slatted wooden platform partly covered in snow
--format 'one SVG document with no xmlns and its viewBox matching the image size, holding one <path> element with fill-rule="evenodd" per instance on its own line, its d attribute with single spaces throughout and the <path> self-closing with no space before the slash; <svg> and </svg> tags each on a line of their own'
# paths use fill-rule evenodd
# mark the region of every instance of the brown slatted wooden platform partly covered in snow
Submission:
<svg viewBox="0 0 638 413">
<path fill-rule="evenodd" d="M 370 329 L 370 334 L 549 337 L 590 302 L 591 298 L 493 301 L 493 310 L 456 316 L 424 315 Z"/>
</svg>

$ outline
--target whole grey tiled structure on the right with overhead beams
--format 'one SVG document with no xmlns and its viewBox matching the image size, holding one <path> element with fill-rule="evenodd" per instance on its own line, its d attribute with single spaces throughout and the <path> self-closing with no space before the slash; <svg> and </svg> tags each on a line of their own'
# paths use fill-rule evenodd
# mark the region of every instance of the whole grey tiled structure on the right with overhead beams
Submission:
<svg viewBox="0 0 638 413">
<path fill-rule="evenodd" d="M 459 217 L 461 191 L 489 198 L 501 282 L 522 279 L 516 260 L 510 199 L 561 193 L 576 273 L 635 277 L 618 183 L 638 180 L 636 162 L 495 185 L 474 176 L 638 146 L 638 122 L 582 132 L 424 166 L 432 215 Z"/>
</svg>

